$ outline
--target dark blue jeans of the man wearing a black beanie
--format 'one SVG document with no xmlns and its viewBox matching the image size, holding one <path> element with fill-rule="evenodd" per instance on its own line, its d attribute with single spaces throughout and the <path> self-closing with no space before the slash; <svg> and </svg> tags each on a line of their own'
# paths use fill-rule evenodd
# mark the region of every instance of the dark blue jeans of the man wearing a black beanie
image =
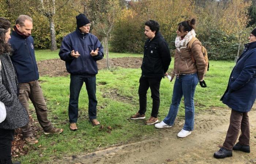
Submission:
<svg viewBox="0 0 256 164">
<path fill-rule="evenodd" d="M 78 98 L 83 86 L 83 82 L 85 82 L 89 98 L 89 118 L 90 120 L 93 120 L 97 116 L 96 107 L 98 101 L 96 99 L 96 76 L 83 78 L 70 75 L 70 98 L 68 105 L 68 116 L 70 123 L 76 123 L 78 119 Z"/>
</svg>

